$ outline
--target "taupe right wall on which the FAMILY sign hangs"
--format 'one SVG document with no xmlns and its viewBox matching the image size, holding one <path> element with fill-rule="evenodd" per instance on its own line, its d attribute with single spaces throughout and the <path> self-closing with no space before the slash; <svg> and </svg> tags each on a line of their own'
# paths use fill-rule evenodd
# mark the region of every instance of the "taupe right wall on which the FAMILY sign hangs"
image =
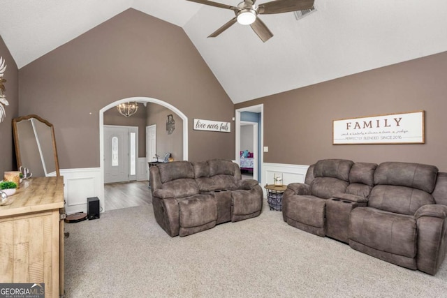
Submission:
<svg viewBox="0 0 447 298">
<path fill-rule="evenodd" d="M 274 94 L 264 104 L 265 163 L 403 161 L 447 171 L 447 52 Z M 425 144 L 332 145 L 332 120 L 425 110 Z"/>
</svg>

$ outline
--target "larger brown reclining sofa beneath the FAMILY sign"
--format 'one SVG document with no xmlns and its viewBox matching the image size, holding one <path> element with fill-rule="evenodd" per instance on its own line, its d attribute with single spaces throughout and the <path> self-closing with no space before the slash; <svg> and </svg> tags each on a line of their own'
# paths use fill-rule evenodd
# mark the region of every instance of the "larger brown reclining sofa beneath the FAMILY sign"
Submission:
<svg viewBox="0 0 447 298">
<path fill-rule="evenodd" d="M 436 274 L 447 249 L 447 173 L 418 163 L 318 161 L 289 184 L 283 217 L 295 228 Z"/>
</svg>

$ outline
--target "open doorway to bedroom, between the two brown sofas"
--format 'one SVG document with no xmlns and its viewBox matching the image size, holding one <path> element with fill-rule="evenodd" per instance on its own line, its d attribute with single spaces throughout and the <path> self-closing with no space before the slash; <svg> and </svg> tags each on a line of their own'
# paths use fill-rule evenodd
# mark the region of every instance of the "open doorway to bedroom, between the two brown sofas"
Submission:
<svg viewBox="0 0 447 298">
<path fill-rule="evenodd" d="M 261 182 L 263 164 L 263 105 L 235 110 L 236 162 L 244 178 Z M 245 176 L 249 175 L 249 176 Z"/>
</svg>

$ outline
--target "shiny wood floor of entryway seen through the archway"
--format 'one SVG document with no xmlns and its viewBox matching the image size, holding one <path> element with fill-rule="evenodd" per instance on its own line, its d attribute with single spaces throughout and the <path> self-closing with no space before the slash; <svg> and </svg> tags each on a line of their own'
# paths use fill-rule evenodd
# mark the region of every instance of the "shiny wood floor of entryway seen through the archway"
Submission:
<svg viewBox="0 0 447 298">
<path fill-rule="evenodd" d="M 104 184 L 105 210 L 152 204 L 148 181 Z"/>
</svg>

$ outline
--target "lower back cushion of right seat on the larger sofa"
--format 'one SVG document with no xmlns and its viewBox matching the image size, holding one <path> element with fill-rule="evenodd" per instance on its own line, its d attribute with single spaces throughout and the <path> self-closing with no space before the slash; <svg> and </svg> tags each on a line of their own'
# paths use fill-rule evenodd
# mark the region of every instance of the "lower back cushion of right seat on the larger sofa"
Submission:
<svg viewBox="0 0 447 298">
<path fill-rule="evenodd" d="M 376 185 L 369 195 L 368 205 L 399 214 L 414 215 L 419 207 L 434 204 L 430 193 L 416 188 L 393 185 Z"/>
</svg>

